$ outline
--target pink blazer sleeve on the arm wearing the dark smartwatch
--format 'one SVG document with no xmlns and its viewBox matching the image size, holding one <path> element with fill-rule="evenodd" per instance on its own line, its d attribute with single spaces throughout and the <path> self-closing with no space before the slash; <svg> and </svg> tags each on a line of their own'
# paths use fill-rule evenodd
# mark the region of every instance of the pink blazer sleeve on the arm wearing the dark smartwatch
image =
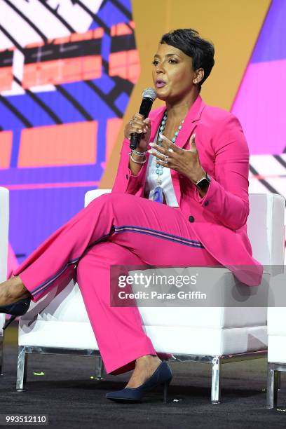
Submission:
<svg viewBox="0 0 286 429">
<path fill-rule="evenodd" d="M 238 118 L 229 114 L 213 139 L 214 175 L 205 196 L 194 198 L 230 229 L 241 228 L 249 209 L 248 172 L 250 153 Z"/>
</svg>

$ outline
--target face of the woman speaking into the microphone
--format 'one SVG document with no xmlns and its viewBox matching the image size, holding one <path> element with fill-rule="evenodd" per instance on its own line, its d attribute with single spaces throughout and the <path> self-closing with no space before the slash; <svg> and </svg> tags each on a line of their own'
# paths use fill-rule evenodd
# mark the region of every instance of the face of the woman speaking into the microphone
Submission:
<svg viewBox="0 0 286 429">
<path fill-rule="evenodd" d="M 197 79 L 191 57 L 173 46 L 159 43 L 153 64 L 152 76 L 158 98 L 170 102 L 184 100 Z"/>
</svg>

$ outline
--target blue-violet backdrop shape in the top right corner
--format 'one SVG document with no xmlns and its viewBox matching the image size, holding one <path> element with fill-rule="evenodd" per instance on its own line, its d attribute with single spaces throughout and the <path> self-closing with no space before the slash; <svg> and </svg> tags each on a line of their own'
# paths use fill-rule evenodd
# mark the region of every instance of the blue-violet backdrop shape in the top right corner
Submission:
<svg viewBox="0 0 286 429">
<path fill-rule="evenodd" d="M 286 58 L 286 1 L 273 0 L 254 48 L 253 62 Z"/>
</svg>

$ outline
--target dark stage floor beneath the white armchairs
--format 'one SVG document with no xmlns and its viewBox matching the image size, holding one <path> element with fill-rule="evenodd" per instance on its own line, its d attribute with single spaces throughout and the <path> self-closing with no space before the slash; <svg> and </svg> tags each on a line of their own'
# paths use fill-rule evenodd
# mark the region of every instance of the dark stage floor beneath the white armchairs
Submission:
<svg viewBox="0 0 286 429">
<path fill-rule="evenodd" d="M 263 428 L 286 427 L 286 377 L 278 409 L 266 409 L 266 360 L 222 367 L 222 403 L 210 404 L 210 366 L 172 363 L 168 404 L 154 390 L 140 404 L 105 399 L 130 373 L 93 380 L 93 357 L 29 355 L 27 390 L 15 390 L 17 324 L 7 329 L 0 414 L 48 414 L 54 428 Z M 44 375 L 36 374 L 44 373 Z M 13 427 L 16 427 L 15 425 Z M 23 426 L 17 426 L 23 427 Z"/>
</svg>

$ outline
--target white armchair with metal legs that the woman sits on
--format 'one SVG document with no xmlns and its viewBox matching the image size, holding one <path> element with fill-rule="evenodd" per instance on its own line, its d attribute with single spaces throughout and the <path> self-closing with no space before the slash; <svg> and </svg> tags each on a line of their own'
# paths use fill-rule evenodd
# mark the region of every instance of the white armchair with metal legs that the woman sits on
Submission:
<svg viewBox="0 0 286 429">
<path fill-rule="evenodd" d="M 110 189 L 86 193 L 86 205 Z M 247 231 L 253 256 L 264 265 L 282 265 L 284 260 L 285 200 L 276 194 L 251 194 Z M 231 271 L 212 270 L 226 293 L 237 289 Z M 269 276 L 268 276 L 269 277 Z M 257 288 L 240 285 L 253 299 Z M 243 297 L 245 299 L 245 297 Z M 266 298 L 267 300 L 267 298 Z M 247 301 L 245 302 L 247 305 Z M 169 353 L 177 362 L 205 362 L 212 366 L 211 400 L 220 400 L 221 364 L 266 357 L 266 307 L 245 308 L 147 308 L 140 307 L 144 329 L 157 352 Z M 51 291 L 20 318 L 17 390 L 24 390 L 29 353 L 95 355 L 96 376 L 102 362 L 78 285 L 70 282 L 61 292 Z"/>
</svg>

